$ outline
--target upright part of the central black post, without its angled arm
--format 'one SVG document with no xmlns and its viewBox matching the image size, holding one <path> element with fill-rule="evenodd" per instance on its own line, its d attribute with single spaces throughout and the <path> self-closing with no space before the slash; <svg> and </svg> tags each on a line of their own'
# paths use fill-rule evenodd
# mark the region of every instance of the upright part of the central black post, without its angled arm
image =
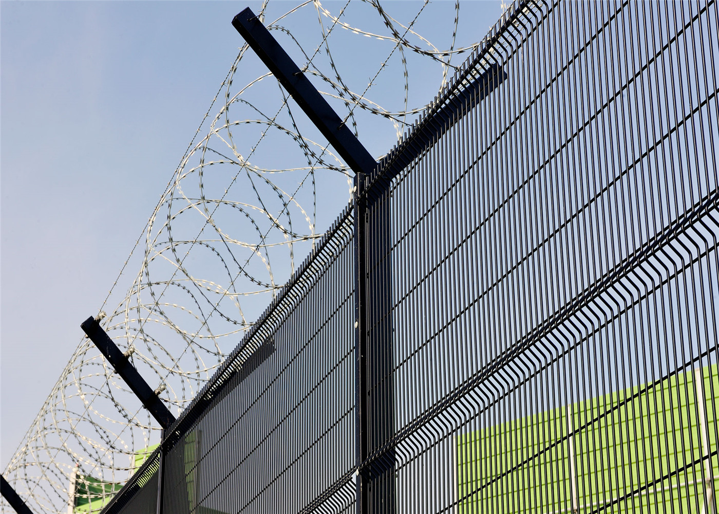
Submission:
<svg viewBox="0 0 719 514">
<path fill-rule="evenodd" d="M 394 450 L 373 452 L 395 430 L 388 202 L 365 196 L 354 177 L 354 358 L 357 514 L 395 511 Z"/>
</svg>

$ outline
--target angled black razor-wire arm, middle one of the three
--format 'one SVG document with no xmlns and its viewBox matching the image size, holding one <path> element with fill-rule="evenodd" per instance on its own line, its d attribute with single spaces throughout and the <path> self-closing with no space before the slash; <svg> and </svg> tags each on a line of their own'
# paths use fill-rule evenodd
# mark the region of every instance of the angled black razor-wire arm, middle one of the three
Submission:
<svg viewBox="0 0 719 514">
<path fill-rule="evenodd" d="M 132 392 L 137 395 L 142 405 L 145 405 L 145 408 L 150 411 L 150 414 L 157 420 L 157 423 L 160 423 L 162 429 L 167 430 L 170 425 L 175 422 L 175 416 L 173 416 L 168 407 L 162 403 L 162 400 L 155 394 L 155 391 L 147 385 L 145 379 L 143 379 L 137 372 L 137 369 L 132 366 L 127 356 L 124 356 L 120 348 L 117 348 L 110 336 L 102 329 L 99 321 L 91 316 L 80 326 L 88 335 L 88 338 L 99 348 L 105 356 L 105 359 L 112 364 L 117 374 L 122 377 L 130 389 L 132 389 Z"/>
</svg>

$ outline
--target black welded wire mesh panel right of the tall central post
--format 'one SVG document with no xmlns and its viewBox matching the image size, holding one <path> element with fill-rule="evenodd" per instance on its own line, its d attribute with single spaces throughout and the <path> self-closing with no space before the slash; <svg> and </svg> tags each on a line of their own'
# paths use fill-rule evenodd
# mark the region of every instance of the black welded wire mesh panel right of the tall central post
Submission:
<svg viewBox="0 0 719 514">
<path fill-rule="evenodd" d="M 376 183 L 367 512 L 716 512 L 717 11 L 515 4 Z"/>
</svg>

